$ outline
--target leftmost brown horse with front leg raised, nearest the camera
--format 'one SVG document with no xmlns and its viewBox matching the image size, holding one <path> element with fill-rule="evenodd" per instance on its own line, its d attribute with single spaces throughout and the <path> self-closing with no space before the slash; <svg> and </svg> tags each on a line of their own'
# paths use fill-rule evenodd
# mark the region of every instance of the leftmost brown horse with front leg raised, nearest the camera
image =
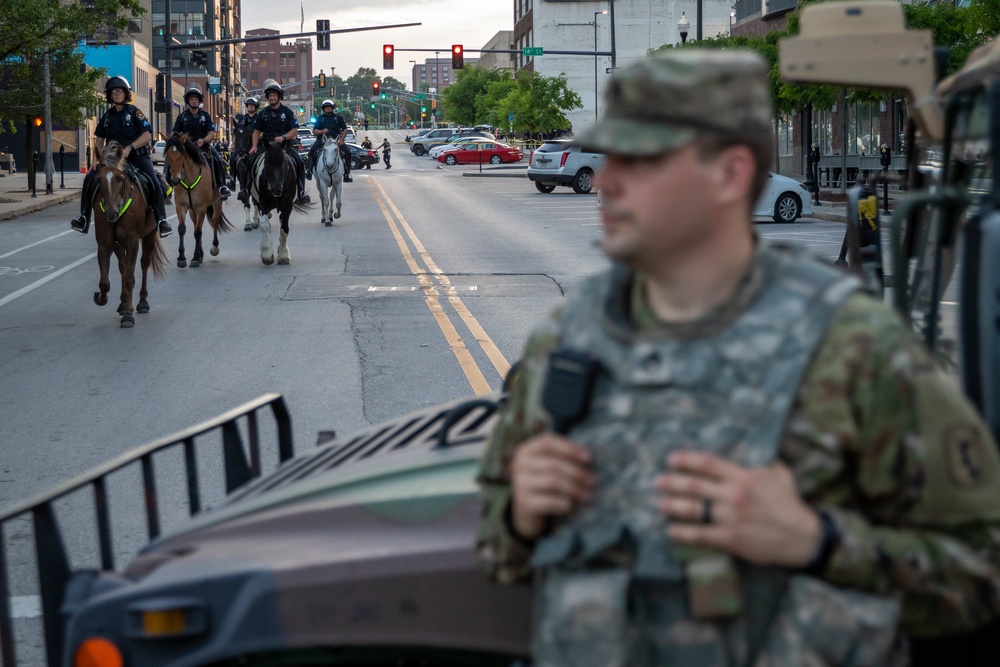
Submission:
<svg viewBox="0 0 1000 667">
<path fill-rule="evenodd" d="M 167 254 L 156 228 L 156 218 L 146 205 L 146 195 L 142 188 L 125 169 L 122 147 L 117 142 L 109 142 L 104 148 L 101 164 L 97 168 L 97 201 L 94 202 L 94 236 L 97 238 L 97 263 L 101 267 L 99 292 L 94 292 L 94 303 L 104 306 L 108 303 L 111 280 L 108 270 L 111 253 L 118 258 L 118 270 L 122 277 L 121 303 L 118 314 L 124 328 L 135 326 L 133 313 L 149 312 L 149 290 L 146 276 L 153 268 L 153 277 L 162 280 L 166 276 L 164 266 Z M 139 304 L 132 307 L 132 290 L 135 288 L 135 260 L 142 243 L 142 287 L 139 289 Z"/>
</svg>

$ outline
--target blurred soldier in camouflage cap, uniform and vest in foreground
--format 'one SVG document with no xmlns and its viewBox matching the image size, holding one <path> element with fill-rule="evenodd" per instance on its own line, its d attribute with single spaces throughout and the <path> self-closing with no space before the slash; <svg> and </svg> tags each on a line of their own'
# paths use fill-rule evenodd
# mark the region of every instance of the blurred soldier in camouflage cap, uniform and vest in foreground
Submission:
<svg viewBox="0 0 1000 667">
<path fill-rule="evenodd" d="M 607 153 L 612 267 L 531 337 L 481 464 L 478 552 L 534 578 L 535 664 L 904 664 L 900 632 L 996 617 L 988 429 L 853 277 L 754 234 L 764 62 L 675 51 L 606 96 L 577 143 Z M 566 351 L 599 369 L 575 421 L 545 407 Z"/>
</svg>

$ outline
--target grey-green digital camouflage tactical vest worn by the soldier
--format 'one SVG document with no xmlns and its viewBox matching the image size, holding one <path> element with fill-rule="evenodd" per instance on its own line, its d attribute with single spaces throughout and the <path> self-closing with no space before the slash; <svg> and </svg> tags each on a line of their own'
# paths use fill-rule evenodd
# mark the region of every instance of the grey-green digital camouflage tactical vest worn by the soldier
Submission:
<svg viewBox="0 0 1000 667">
<path fill-rule="evenodd" d="M 569 432 L 598 482 L 535 547 L 538 667 L 887 664 L 897 600 L 672 544 L 654 505 L 672 451 L 775 460 L 802 375 L 859 288 L 762 246 L 736 302 L 689 336 L 636 330 L 633 275 L 620 267 L 564 309 L 562 347 L 602 366 L 590 412 Z"/>
</svg>

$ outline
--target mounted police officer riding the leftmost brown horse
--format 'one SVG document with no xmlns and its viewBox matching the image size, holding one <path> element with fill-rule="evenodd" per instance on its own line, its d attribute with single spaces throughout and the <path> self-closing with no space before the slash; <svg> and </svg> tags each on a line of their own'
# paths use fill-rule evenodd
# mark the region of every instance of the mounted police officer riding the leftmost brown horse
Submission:
<svg viewBox="0 0 1000 667">
<path fill-rule="evenodd" d="M 104 84 L 104 94 L 111 107 L 104 112 L 97 123 L 97 129 L 94 131 L 94 135 L 97 137 L 94 148 L 100 153 L 107 141 L 117 141 L 122 145 L 124 149 L 122 154 L 125 159 L 149 178 L 152 190 L 150 204 L 156 213 L 160 236 L 168 236 L 173 229 L 167 222 L 160 179 L 157 177 L 153 161 L 149 157 L 148 144 L 153 137 L 149 120 L 135 105 L 131 104 L 132 86 L 129 85 L 125 77 L 113 76 L 108 79 L 108 82 Z M 95 166 L 83 179 L 80 217 L 70 222 L 70 226 L 82 234 L 86 234 L 87 230 L 90 229 L 91 206 L 97 188 L 97 181 L 94 178 L 96 173 Z"/>
</svg>

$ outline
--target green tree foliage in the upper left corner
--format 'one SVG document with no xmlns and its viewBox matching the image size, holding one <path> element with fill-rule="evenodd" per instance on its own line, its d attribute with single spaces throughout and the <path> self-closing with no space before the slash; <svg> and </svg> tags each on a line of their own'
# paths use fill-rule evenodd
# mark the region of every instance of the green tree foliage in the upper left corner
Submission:
<svg viewBox="0 0 1000 667">
<path fill-rule="evenodd" d="M 103 109 L 97 82 L 106 73 L 83 71 L 83 56 L 76 51 L 81 35 L 124 30 L 128 17 L 143 13 L 136 0 L 3 0 L 0 21 L 0 131 L 17 131 L 26 117 L 42 114 L 44 53 L 50 58 L 52 118 L 76 125 L 88 115 L 83 110 Z M 22 125 L 23 126 L 23 125 Z"/>
</svg>

